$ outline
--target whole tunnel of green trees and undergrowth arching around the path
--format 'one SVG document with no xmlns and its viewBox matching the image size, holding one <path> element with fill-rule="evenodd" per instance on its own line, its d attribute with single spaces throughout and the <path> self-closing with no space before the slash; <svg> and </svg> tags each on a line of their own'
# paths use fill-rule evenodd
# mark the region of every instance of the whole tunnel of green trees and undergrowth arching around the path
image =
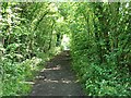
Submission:
<svg viewBox="0 0 131 98">
<path fill-rule="evenodd" d="M 27 95 L 26 81 L 64 47 L 86 95 L 130 96 L 130 4 L 1 2 L 0 96 Z"/>
</svg>

